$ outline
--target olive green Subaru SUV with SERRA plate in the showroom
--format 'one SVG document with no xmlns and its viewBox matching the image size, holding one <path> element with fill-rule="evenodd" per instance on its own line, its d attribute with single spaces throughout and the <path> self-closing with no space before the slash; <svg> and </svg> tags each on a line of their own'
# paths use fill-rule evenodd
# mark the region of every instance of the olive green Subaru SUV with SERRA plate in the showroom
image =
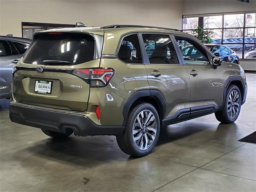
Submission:
<svg viewBox="0 0 256 192">
<path fill-rule="evenodd" d="M 36 32 L 14 68 L 10 120 L 54 138 L 114 135 L 123 152 L 145 156 L 162 126 L 211 113 L 234 122 L 246 92 L 238 64 L 179 30 L 57 28 Z"/>
</svg>

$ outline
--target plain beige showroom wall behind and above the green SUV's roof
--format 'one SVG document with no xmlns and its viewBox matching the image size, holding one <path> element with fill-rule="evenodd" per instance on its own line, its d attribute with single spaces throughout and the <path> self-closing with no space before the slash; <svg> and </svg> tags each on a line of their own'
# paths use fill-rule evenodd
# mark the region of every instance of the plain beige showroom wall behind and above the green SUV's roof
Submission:
<svg viewBox="0 0 256 192">
<path fill-rule="evenodd" d="M 21 36 L 21 22 L 138 24 L 181 29 L 182 1 L 0 0 L 0 35 Z"/>
</svg>

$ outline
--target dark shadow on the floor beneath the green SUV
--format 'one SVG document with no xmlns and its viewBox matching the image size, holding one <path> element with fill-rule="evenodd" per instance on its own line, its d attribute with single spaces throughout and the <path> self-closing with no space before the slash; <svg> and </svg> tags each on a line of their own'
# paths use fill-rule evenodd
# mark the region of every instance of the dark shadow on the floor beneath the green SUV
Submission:
<svg viewBox="0 0 256 192">
<path fill-rule="evenodd" d="M 226 129 L 225 126 L 226 125 L 224 124 L 219 124 L 217 128 L 215 127 L 214 129 L 211 129 L 212 134 L 216 136 L 220 134 L 228 135 L 230 131 L 234 132 L 236 129 L 236 124 L 230 124 L 228 129 Z M 205 123 L 204 126 L 198 126 L 198 123 L 191 123 L 190 125 L 186 124 L 184 127 L 164 127 L 160 131 L 160 138 L 156 146 L 159 148 L 162 144 L 181 140 L 204 130 L 208 130 L 208 128 L 213 128 L 213 126 L 209 125 L 208 127 Z M 76 164 L 83 167 L 98 166 L 99 164 L 108 162 L 127 162 L 138 159 L 124 154 L 118 149 L 117 144 L 115 148 L 112 148 L 108 146 L 108 143 L 106 142 L 102 144 L 94 141 L 93 137 L 90 139 L 91 142 L 87 142 L 86 138 L 84 138 L 84 140 L 82 138 L 78 139 L 74 137 L 69 137 L 65 140 L 46 138 L 33 143 L 32 146 L 24 148 L 23 151 L 19 151 L 17 154 L 28 154 L 29 156 L 32 156 L 32 158 L 35 158 L 37 161 L 36 164 L 38 164 L 38 161 L 44 164 L 45 160 L 50 159 L 57 162 Z M 96 138 L 96 140 L 97 139 L 99 138 Z M 31 161 L 23 163 L 24 166 L 30 166 Z"/>
</svg>

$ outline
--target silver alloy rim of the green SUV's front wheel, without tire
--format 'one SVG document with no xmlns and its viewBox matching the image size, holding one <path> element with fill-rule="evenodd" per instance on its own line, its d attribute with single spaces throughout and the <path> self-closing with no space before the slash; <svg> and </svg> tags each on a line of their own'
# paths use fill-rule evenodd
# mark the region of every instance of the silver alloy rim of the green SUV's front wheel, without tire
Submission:
<svg viewBox="0 0 256 192">
<path fill-rule="evenodd" d="M 236 90 L 233 90 L 228 96 L 228 115 L 234 119 L 240 109 L 239 94 Z"/>
</svg>

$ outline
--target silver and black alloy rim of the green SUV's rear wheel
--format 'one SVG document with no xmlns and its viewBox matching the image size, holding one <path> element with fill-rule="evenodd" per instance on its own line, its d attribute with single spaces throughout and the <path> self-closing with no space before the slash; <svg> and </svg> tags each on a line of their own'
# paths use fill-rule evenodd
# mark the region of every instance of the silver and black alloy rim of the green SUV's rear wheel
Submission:
<svg viewBox="0 0 256 192">
<path fill-rule="evenodd" d="M 132 136 L 136 147 L 140 150 L 148 149 L 154 142 L 157 131 L 157 123 L 154 114 L 150 110 L 141 111 L 133 124 Z"/>
</svg>

